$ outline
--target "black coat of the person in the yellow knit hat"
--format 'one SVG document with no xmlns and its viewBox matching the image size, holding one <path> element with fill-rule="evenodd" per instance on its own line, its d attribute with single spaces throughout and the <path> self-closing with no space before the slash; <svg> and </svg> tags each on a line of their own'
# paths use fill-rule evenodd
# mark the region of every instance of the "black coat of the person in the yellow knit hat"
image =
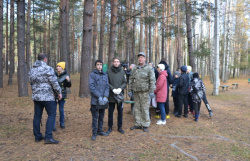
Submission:
<svg viewBox="0 0 250 161">
<path fill-rule="evenodd" d="M 64 70 L 62 73 L 55 73 L 56 77 L 57 77 L 57 81 L 60 85 L 60 87 L 62 88 L 62 97 L 63 98 L 67 98 L 67 89 L 66 87 L 71 87 L 71 81 L 68 82 L 68 80 L 66 79 L 67 76 L 69 76 L 66 72 L 66 70 Z"/>
</svg>

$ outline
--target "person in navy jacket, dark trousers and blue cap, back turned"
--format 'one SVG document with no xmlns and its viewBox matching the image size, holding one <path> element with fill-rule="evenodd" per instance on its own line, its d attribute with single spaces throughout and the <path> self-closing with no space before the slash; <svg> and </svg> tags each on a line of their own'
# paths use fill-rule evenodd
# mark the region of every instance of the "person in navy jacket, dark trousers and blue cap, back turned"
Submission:
<svg viewBox="0 0 250 161">
<path fill-rule="evenodd" d="M 182 107 L 184 104 L 184 117 L 188 117 L 188 89 L 189 89 L 189 77 L 186 73 L 187 67 L 182 66 L 181 67 L 181 76 L 180 81 L 178 83 L 178 97 L 179 97 L 179 109 L 178 109 L 178 115 L 177 117 L 181 117 L 182 113 Z"/>
</svg>

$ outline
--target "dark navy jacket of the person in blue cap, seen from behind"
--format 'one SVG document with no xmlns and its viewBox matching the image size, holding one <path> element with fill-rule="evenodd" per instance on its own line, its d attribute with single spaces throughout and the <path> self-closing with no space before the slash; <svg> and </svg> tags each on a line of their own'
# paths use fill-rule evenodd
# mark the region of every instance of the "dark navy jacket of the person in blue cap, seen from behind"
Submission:
<svg viewBox="0 0 250 161">
<path fill-rule="evenodd" d="M 188 94 L 189 91 L 189 76 L 187 73 L 182 73 L 180 76 L 180 81 L 178 83 L 178 92 L 179 94 Z"/>
</svg>

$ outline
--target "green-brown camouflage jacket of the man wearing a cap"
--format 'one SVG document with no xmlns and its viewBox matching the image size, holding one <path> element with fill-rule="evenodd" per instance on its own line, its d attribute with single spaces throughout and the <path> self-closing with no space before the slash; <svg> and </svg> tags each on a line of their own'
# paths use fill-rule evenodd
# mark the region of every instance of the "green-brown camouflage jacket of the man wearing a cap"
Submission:
<svg viewBox="0 0 250 161">
<path fill-rule="evenodd" d="M 150 65 L 136 66 L 129 77 L 129 92 L 154 92 L 155 73 Z"/>
</svg>

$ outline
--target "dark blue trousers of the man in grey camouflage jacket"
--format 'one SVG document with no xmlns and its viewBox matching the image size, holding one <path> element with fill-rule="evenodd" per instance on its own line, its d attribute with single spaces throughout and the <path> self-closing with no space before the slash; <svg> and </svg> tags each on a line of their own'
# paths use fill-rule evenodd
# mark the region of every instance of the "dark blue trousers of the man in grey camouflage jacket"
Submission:
<svg viewBox="0 0 250 161">
<path fill-rule="evenodd" d="M 56 118 L 56 101 L 34 101 L 33 133 L 36 140 L 42 138 L 42 134 L 40 132 L 40 124 L 44 108 L 48 114 L 45 139 L 53 138 L 52 130 L 54 128 Z"/>
</svg>

